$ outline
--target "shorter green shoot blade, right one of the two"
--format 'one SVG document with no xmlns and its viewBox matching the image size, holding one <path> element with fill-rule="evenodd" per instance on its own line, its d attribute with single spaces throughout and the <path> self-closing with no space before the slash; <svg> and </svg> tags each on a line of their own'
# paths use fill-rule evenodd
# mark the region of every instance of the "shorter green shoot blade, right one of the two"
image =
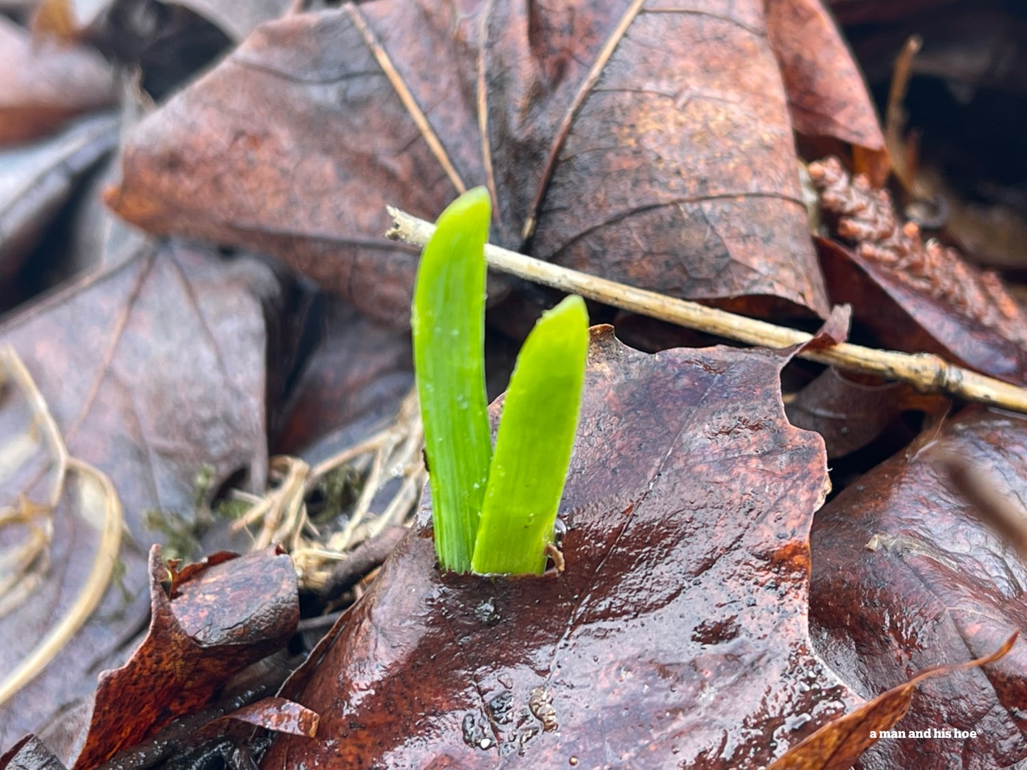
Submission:
<svg viewBox="0 0 1027 770">
<path fill-rule="evenodd" d="M 481 574 L 540 574 L 577 432 L 588 349 L 580 297 L 543 313 L 506 390 L 471 561 Z"/>
</svg>

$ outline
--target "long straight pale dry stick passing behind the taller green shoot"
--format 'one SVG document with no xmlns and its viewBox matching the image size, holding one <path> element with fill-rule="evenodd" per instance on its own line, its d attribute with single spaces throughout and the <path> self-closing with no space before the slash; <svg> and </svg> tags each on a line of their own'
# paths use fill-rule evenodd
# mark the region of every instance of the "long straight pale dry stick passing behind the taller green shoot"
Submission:
<svg viewBox="0 0 1027 770">
<path fill-rule="evenodd" d="M 435 230 L 434 225 L 392 206 L 387 208 L 394 220 L 392 229 L 386 233 L 388 238 L 417 246 L 427 243 Z M 597 278 L 489 243 L 485 246 L 485 258 L 490 267 L 503 273 L 750 345 L 785 348 L 807 343 L 813 338 L 806 332 Z M 1027 389 L 956 367 L 933 353 L 900 353 L 842 342 L 828 348 L 802 350 L 797 355 L 847 372 L 902 380 L 921 392 L 948 393 L 968 401 L 1027 414 Z"/>
</svg>

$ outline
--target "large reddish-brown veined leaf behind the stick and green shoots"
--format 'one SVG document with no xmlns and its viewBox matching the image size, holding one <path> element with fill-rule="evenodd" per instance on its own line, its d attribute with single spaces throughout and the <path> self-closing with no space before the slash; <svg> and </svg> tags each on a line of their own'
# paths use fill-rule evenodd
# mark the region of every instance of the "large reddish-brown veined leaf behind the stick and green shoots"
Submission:
<svg viewBox="0 0 1027 770">
<path fill-rule="evenodd" d="M 275 254 L 406 324 L 414 254 L 382 239 L 384 204 L 430 218 L 483 183 L 502 245 L 827 313 L 760 0 L 291 16 L 140 124 L 108 200 L 154 232 Z"/>
</svg>

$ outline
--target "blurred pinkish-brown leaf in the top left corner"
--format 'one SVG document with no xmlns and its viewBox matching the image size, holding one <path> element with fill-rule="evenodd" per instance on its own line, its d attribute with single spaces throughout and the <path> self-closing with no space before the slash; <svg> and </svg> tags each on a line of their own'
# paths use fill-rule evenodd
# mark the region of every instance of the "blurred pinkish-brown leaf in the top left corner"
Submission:
<svg viewBox="0 0 1027 770">
<path fill-rule="evenodd" d="M 49 133 L 115 97 L 112 71 L 99 55 L 33 46 L 27 30 L 0 16 L 0 145 Z"/>
</svg>

